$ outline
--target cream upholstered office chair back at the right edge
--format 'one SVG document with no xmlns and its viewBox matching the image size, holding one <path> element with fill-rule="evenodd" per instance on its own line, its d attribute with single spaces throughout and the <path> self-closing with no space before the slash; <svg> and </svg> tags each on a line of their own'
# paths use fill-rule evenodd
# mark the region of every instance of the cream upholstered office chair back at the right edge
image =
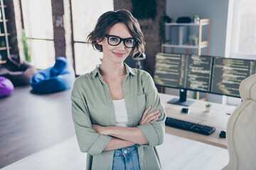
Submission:
<svg viewBox="0 0 256 170">
<path fill-rule="evenodd" d="M 242 103 L 228 119 L 230 159 L 223 170 L 256 169 L 256 74 L 241 82 L 239 92 Z"/>
</svg>

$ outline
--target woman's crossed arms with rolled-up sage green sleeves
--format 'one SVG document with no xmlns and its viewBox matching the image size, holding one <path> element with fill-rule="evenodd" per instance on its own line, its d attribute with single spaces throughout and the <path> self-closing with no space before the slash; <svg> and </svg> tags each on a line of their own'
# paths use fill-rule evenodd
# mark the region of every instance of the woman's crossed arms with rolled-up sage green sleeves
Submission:
<svg viewBox="0 0 256 170">
<path fill-rule="evenodd" d="M 92 115 L 90 115 L 85 96 L 87 95 L 87 98 L 90 98 L 92 92 L 87 89 L 89 89 L 88 86 L 92 88 L 94 85 L 84 84 L 83 77 L 78 78 L 76 82 L 71 95 L 72 116 L 81 152 L 88 152 L 93 156 L 101 154 L 104 150 L 113 150 L 134 144 L 154 147 L 164 142 L 166 113 L 152 79 L 142 81 L 146 91 L 145 101 L 151 104 L 152 107 L 150 108 L 146 104 L 146 107 L 149 108 L 144 111 L 139 125 L 134 128 L 93 125 Z"/>
</svg>

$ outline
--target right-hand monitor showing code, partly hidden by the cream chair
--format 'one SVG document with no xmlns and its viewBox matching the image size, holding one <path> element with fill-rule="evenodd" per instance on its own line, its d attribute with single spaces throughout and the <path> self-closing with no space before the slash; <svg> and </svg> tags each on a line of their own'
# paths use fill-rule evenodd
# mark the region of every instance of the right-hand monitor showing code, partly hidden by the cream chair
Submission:
<svg viewBox="0 0 256 170">
<path fill-rule="evenodd" d="M 214 57 L 210 93 L 240 98 L 240 82 L 252 74 L 255 60 Z"/>
</svg>

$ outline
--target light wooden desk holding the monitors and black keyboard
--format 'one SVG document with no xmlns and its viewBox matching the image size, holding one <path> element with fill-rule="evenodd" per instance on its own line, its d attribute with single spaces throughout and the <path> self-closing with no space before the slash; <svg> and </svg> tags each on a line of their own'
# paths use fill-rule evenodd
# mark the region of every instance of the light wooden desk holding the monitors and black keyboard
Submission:
<svg viewBox="0 0 256 170">
<path fill-rule="evenodd" d="M 161 98 L 161 102 L 165 106 L 167 117 L 186 120 L 193 123 L 200 123 L 201 125 L 208 125 L 216 128 L 215 132 L 209 136 L 189 132 L 187 130 L 171 128 L 169 126 L 166 126 L 166 133 L 227 149 L 226 139 L 220 138 L 219 134 L 221 130 L 226 130 L 228 118 L 230 116 L 226 113 L 231 113 L 231 111 L 235 109 L 235 106 L 228 106 L 208 101 L 197 101 L 191 98 L 189 98 L 190 101 L 195 101 L 191 106 L 178 106 L 167 103 L 172 98 L 178 98 L 178 96 L 172 96 L 169 94 L 159 94 L 159 96 Z M 211 110 L 208 113 L 205 112 L 206 103 L 212 104 Z M 189 108 L 189 113 L 181 113 L 181 108 Z"/>
</svg>

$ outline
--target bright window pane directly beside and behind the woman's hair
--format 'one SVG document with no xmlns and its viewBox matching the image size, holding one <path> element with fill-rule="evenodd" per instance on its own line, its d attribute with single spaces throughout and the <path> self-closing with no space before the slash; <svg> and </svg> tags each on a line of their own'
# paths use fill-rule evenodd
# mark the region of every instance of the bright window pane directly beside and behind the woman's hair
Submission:
<svg viewBox="0 0 256 170">
<path fill-rule="evenodd" d="M 114 9 L 113 0 L 72 0 L 75 73 L 85 74 L 100 64 L 102 52 L 93 50 L 86 42 L 102 13 Z"/>
</svg>

